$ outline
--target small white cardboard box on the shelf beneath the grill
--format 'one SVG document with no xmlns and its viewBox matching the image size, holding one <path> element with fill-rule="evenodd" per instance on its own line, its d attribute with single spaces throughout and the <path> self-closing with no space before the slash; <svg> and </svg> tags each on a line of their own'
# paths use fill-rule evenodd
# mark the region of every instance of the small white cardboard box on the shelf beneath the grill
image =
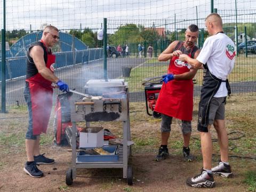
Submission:
<svg viewBox="0 0 256 192">
<path fill-rule="evenodd" d="M 103 146 L 103 127 L 87 127 L 79 135 L 79 148 Z"/>
</svg>

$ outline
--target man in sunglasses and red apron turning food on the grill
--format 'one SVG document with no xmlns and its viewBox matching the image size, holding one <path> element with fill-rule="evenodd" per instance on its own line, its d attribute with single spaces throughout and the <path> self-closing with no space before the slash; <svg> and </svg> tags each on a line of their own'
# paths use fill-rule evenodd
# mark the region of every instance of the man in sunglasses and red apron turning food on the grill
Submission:
<svg viewBox="0 0 256 192">
<path fill-rule="evenodd" d="M 55 55 L 50 48 L 59 39 L 58 31 L 54 26 L 46 26 L 41 40 L 31 45 L 27 52 L 24 97 L 29 113 L 26 133 L 28 161 L 23 170 L 31 177 L 43 176 L 37 164 L 54 163 L 54 159 L 47 158 L 39 152 L 40 134 L 46 133 L 52 109 L 52 83 L 56 83 L 61 91 L 69 91 L 68 85 L 53 74 Z"/>
</svg>

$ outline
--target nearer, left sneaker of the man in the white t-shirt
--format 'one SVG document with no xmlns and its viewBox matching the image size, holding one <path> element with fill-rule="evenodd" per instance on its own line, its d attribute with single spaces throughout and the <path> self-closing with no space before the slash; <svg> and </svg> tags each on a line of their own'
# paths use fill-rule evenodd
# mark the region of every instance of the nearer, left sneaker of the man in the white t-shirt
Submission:
<svg viewBox="0 0 256 192">
<path fill-rule="evenodd" d="M 190 187 L 206 187 L 212 188 L 215 186 L 215 181 L 213 178 L 213 174 L 207 173 L 204 169 L 202 169 L 201 173 L 196 175 L 193 178 L 188 178 L 186 181 L 187 185 Z"/>
</svg>

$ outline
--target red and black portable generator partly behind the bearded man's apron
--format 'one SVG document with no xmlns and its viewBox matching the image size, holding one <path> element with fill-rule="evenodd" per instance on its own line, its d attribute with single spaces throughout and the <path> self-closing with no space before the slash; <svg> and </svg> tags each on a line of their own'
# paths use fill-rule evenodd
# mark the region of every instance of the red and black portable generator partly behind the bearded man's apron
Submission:
<svg viewBox="0 0 256 192">
<path fill-rule="evenodd" d="M 161 87 L 162 83 L 149 84 L 145 86 L 147 114 L 155 118 L 161 118 L 161 113 L 157 113 L 156 111 L 154 111 Z M 152 113 L 149 113 L 149 109 L 152 111 Z"/>
</svg>

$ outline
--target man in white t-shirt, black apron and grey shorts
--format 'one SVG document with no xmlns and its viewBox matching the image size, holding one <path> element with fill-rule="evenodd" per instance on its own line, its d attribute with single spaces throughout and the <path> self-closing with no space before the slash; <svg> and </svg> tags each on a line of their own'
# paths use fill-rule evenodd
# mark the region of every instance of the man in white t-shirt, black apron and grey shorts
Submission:
<svg viewBox="0 0 256 192">
<path fill-rule="evenodd" d="M 214 187 L 213 174 L 230 177 L 233 173 L 228 163 L 228 135 L 225 126 L 225 103 L 230 94 L 228 75 L 234 68 L 235 45 L 223 33 L 219 14 L 211 13 L 205 19 L 205 26 L 211 35 L 206 38 L 203 49 L 196 59 L 181 54 L 179 59 L 187 61 L 192 68 L 204 67 L 204 82 L 198 108 L 197 130 L 200 131 L 203 154 L 201 174 L 188 178 L 191 187 Z M 207 63 L 206 63 L 207 62 Z M 220 162 L 212 168 L 212 139 L 210 128 L 214 125 L 220 145 Z"/>
</svg>

